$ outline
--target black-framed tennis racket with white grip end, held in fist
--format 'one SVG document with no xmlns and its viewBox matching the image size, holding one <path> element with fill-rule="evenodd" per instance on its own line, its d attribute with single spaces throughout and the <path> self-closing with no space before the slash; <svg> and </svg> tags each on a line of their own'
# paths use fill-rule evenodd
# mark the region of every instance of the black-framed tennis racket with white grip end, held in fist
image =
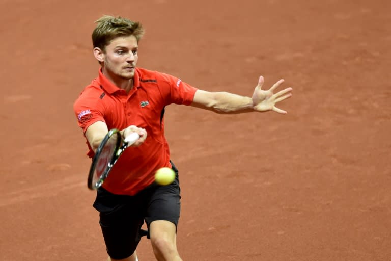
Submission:
<svg viewBox="0 0 391 261">
<path fill-rule="evenodd" d="M 102 186 L 122 152 L 134 144 L 139 137 L 138 133 L 132 133 L 124 140 L 118 129 L 110 129 L 92 159 L 87 180 L 87 186 L 90 190 L 96 190 Z"/>
</svg>

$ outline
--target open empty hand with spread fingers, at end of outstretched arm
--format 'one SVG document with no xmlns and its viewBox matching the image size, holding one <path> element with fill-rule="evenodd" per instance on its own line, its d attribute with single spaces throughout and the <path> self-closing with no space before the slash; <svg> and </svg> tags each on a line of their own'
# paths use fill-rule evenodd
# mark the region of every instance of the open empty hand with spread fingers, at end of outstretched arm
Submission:
<svg viewBox="0 0 391 261">
<path fill-rule="evenodd" d="M 269 90 L 262 90 L 263 76 L 259 77 L 258 85 L 255 87 L 253 93 L 254 110 L 257 112 L 274 111 L 281 114 L 287 114 L 286 111 L 275 107 L 277 102 L 286 100 L 292 96 L 292 88 L 286 88 L 277 93 L 273 93 L 278 86 L 284 83 L 284 80 L 276 82 Z"/>
</svg>

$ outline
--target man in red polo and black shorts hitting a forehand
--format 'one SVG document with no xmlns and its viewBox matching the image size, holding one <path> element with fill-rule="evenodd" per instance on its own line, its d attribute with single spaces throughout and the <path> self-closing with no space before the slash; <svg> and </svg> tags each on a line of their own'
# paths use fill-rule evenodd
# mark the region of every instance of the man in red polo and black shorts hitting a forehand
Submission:
<svg viewBox="0 0 391 261">
<path fill-rule="evenodd" d="M 175 103 L 223 114 L 286 114 L 275 104 L 289 98 L 292 88 L 273 94 L 284 82 L 280 80 L 262 90 L 261 76 L 252 97 L 199 90 L 177 77 L 136 68 L 138 43 L 144 33 L 140 23 L 113 16 L 103 16 L 96 23 L 92 41 L 101 69 L 74 103 L 88 155 L 94 155 L 111 128 L 120 129 L 124 137 L 133 132 L 140 135 L 121 155 L 94 202 L 108 260 L 138 260 L 135 250 L 144 221 L 156 259 L 182 260 L 176 246 L 180 187 L 164 137 L 165 106 Z M 169 186 L 149 186 L 161 167 L 172 168 L 177 174 L 175 181 Z"/>
</svg>

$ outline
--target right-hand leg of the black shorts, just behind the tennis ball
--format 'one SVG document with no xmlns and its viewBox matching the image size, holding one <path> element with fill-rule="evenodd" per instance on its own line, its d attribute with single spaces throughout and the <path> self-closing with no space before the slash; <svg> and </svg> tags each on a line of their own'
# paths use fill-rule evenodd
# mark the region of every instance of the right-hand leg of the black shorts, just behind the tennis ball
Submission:
<svg viewBox="0 0 391 261">
<path fill-rule="evenodd" d="M 175 180 L 167 186 L 159 186 L 154 188 L 150 197 L 145 221 L 149 228 L 151 222 L 156 220 L 170 221 L 178 225 L 181 211 L 181 196 L 179 186 L 178 170 L 173 165 L 173 170 L 176 173 Z"/>
</svg>

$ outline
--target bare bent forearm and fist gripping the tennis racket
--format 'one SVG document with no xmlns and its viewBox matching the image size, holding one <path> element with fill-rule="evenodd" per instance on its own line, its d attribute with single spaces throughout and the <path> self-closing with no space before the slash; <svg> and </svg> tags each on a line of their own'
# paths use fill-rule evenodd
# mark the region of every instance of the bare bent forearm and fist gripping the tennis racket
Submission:
<svg viewBox="0 0 391 261">
<path fill-rule="evenodd" d="M 122 137 L 126 138 L 131 133 L 138 133 L 140 138 L 132 145 L 132 146 L 139 146 L 141 145 L 145 139 L 147 138 L 147 131 L 144 128 L 139 128 L 134 125 L 130 125 L 120 131 Z M 100 143 L 102 142 L 104 136 L 108 133 L 108 128 L 106 123 L 103 121 L 97 121 L 93 124 L 91 124 L 86 131 L 86 138 L 89 142 L 92 150 L 96 152 L 98 149 Z"/>
</svg>

